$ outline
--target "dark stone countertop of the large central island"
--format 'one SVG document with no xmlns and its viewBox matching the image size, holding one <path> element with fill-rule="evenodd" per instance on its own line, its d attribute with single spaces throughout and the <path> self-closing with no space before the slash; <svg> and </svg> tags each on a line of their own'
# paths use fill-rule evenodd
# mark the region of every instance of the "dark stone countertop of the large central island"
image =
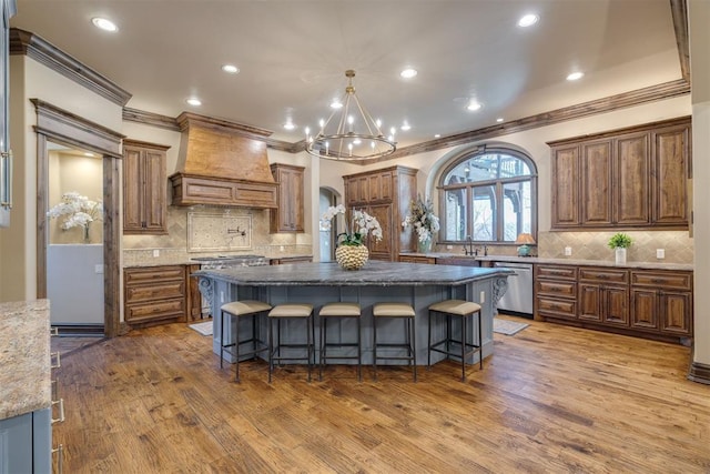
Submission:
<svg viewBox="0 0 710 474">
<path fill-rule="evenodd" d="M 200 270 L 194 276 L 206 276 L 230 283 L 252 285 L 327 285 L 327 286 L 396 286 L 429 284 L 465 284 L 491 276 L 506 276 L 505 269 L 428 265 L 369 261 L 361 270 L 343 270 L 337 263 L 297 263 L 275 266 L 246 266 L 224 270 Z"/>
</svg>

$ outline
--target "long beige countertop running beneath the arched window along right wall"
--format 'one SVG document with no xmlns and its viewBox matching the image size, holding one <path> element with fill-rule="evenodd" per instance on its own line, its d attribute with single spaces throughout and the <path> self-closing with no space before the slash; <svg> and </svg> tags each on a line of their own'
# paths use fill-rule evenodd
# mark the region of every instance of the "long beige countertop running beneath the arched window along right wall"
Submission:
<svg viewBox="0 0 710 474">
<path fill-rule="evenodd" d="M 617 265 L 610 260 L 575 260 L 575 259 L 547 259 L 540 256 L 516 256 L 516 255 L 477 255 L 466 256 L 460 253 L 430 252 L 430 253 L 402 253 L 410 256 L 428 256 L 435 259 L 473 259 L 479 262 L 516 262 L 516 263 L 547 263 L 557 265 L 588 265 L 588 266 L 622 266 L 626 269 L 645 270 L 683 270 L 693 271 L 693 265 L 688 263 L 666 263 L 666 262 L 629 262 Z"/>
</svg>

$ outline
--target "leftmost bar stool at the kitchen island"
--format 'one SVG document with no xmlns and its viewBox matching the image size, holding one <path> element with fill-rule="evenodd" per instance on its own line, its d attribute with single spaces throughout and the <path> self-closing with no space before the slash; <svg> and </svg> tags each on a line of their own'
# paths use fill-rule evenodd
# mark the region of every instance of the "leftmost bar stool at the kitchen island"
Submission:
<svg viewBox="0 0 710 474">
<path fill-rule="evenodd" d="M 253 300 L 244 300 L 244 301 L 233 301 L 231 303 L 223 304 L 220 309 L 220 317 L 222 322 L 222 326 L 220 327 L 220 369 L 224 365 L 224 353 L 232 355 L 235 362 L 235 375 L 234 380 L 240 382 L 240 357 L 251 355 L 253 357 L 256 354 L 264 352 L 268 349 L 266 343 L 264 343 L 258 337 L 258 321 L 256 316 L 266 311 L 271 310 L 271 305 L 261 301 Z M 225 316 L 227 323 L 225 324 Z M 251 316 L 252 317 L 252 337 L 247 340 L 240 340 L 240 319 L 242 316 Z M 224 327 L 229 324 L 230 329 L 232 327 L 232 323 L 236 321 L 235 330 L 234 330 L 234 342 L 229 344 L 224 343 Z M 230 331 L 231 334 L 231 331 Z M 252 349 L 246 352 L 240 352 L 240 346 L 243 344 L 252 343 Z M 234 347 L 232 350 L 232 347 Z"/>
</svg>

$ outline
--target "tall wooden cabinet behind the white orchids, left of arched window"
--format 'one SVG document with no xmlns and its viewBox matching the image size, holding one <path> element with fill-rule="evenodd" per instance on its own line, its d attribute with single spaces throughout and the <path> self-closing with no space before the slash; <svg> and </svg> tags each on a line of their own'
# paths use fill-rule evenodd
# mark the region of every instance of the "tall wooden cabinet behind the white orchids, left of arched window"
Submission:
<svg viewBox="0 0 710 474">
<path fill-rule="evenodd" d="M 403 230 L 402 222 L 416 199 L 416 173 L 412 168 L 392 167 L 343 177 L 348 213 L 365 211 L 382 226 L 379 242 L 368 239 L 371 259 L 395 262 L 400 252 L 415 250 L 412 231 Z"/>
</svg>

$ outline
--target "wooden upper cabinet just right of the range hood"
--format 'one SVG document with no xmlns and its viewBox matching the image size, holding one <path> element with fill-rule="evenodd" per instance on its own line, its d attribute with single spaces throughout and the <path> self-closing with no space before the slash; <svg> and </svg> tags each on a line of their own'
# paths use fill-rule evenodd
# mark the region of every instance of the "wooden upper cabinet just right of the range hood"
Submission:
<svg viewBox="0 0 710 474">
<path fill-rule="evenodd" d="M 271 172 L 278 183 L 276 202 L 271 211 L 271 232 L 303 232 L 303 173 L 305 168 L 274 163 Z"/>
</svg>

